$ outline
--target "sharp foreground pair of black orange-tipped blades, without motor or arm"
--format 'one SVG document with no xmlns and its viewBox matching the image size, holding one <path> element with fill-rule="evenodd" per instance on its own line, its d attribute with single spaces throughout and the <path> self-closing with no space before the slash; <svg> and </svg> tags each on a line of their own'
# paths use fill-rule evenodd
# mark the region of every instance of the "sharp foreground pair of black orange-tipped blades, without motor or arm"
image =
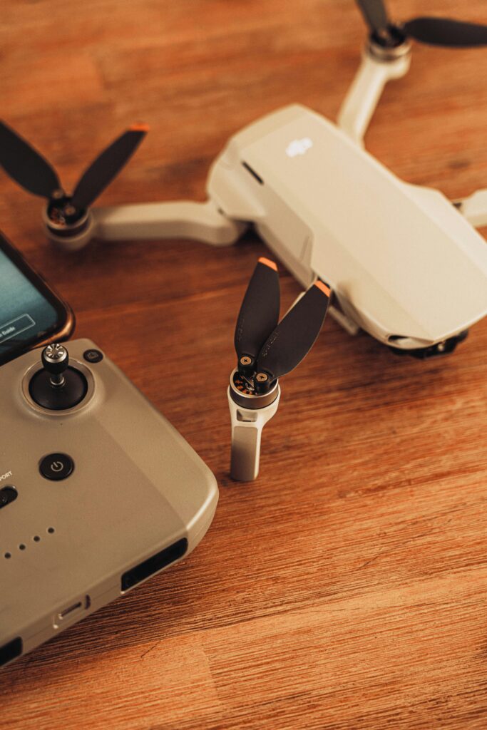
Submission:
<svg viewBox="0 0 487 730">
<path fill-rule="evenodd" d="M 320 334 L 331 292 L 318 280 L 279 320 L 277 266 L 259 258 L 235 331 L 238 369 L 256 393 L 267 393 L 304 359 Z"/>
</svg>

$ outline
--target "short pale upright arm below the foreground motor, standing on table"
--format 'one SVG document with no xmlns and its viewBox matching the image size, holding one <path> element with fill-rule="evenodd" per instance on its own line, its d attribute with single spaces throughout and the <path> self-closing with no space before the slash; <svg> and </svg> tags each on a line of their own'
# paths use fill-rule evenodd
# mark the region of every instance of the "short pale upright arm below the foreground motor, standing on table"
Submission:
<svg viewBox="0 0 487 730">
<path fill-rule="evenodd" d="M 271 404 L 257 410 L 242 408 L 235 403 L 230 388 L 228 396 L 231 415 L 230 476 L 237 482 L 252 482 L 258 475 L 262 429 L 277 411 L 280 391 Z"/>
</svg>

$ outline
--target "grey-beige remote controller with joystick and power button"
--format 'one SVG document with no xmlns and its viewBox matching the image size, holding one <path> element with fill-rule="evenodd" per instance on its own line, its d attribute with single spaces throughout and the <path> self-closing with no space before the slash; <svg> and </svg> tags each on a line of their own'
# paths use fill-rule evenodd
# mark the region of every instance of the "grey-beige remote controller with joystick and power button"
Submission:
<svg viewBox="0 0 487 730">
<path fill-rule="evenodd" d="M 218 487 L 88 339 L 0 369 L 0 666 L 188 556 Z"/>
</svg>

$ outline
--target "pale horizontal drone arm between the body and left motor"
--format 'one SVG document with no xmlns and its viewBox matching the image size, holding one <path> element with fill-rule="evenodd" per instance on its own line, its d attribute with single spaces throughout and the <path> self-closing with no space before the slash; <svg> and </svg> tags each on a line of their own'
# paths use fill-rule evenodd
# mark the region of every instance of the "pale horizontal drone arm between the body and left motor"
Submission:
<svg viewBox="0 0 487 730">
<path fill-rule="evenodd" d="M 219 246 L 237 241 L 246 227 L 226 218 L 211 200 L 94 208 L 93 218 L 96 237 L 107 241 L 190 238 Z"/>
</svg>

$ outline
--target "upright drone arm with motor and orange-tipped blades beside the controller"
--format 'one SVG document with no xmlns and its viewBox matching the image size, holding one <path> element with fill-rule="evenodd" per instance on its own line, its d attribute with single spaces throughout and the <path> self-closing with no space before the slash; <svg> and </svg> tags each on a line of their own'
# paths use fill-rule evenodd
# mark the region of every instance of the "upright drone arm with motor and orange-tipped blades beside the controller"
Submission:
<svg viewBox="0 0 487 730">
<path fill-rule="evenodd" d="M 293 370 L 320 334 L 330 290 L 318 280 L 279 322 L 279 275 L 274 261 L 259 258 L 235 328 L 237 369 L 230 376 L 230 475 L 250 482 L 258 475 L 261 434 L 280 401 L 278 379 Z"/>
</svg>

